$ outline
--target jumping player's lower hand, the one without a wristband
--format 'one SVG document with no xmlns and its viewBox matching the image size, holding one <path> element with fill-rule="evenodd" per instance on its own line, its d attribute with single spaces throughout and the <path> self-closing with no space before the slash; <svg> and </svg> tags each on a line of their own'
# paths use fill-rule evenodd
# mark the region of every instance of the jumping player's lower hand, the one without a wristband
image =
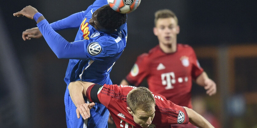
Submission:
<svg viewBox="0 0 257 128">
<path fill-rule="evenodd" d="M 22 39 L 25 40 L 30 40 L 30 38 L 41 38 L 43 35 L 39 31 L 38 27 L 36 28 L 30 28 L 27 29 L 26 31 L 22 32 Z"/>
</svg>

